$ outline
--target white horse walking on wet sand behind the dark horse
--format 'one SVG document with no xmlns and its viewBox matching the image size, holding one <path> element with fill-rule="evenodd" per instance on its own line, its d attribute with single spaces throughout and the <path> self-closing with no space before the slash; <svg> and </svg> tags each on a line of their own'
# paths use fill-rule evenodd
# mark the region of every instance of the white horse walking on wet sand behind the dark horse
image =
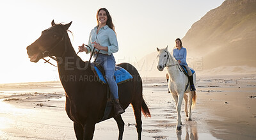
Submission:
<svg viewBox="0 0 256 140">
<path fill-rule="evenodd" d="M 190 84 L 188 81 L 188 76 L 186 76 L 182 72 L 181 66 L 173 59 L 170 52 L 168 52 L 168 46 L 165 49 L 158 49 L 158 65 L 157 69 L 159 71 L 163 71 L 164 67 L 167 68 L 168 75 L 169 75 L 169 82 L 168 82 L 168 88 L 172 93 L 172 97 L 175 100 L 176 103 L 176 109 L 178 113 L 177 118 L 177 125 L 176 130 L 181 130 L 181 116 L 180 116 L 180 109 L 182 104 L 183 97 L 188 96 L 184 93 L 189 93 L 189 113 L 188 113 L 188 121 L 191 121 L 191 108 L 195 107 L 196 104 L 196 91 L 190 91 Z M 196 74 L 193 74 L 193 81 L 196 83 Z M 186 99 L 186 98 L 185 98 Z M 185 100 L 188 102 L 188 100 Z M 185 104 L 186 105 L 186 104 Z M 185 107 L 186 112 L 186 107 Z M 187 116 L 187 113 L 186 113 Z"/>
</svg>

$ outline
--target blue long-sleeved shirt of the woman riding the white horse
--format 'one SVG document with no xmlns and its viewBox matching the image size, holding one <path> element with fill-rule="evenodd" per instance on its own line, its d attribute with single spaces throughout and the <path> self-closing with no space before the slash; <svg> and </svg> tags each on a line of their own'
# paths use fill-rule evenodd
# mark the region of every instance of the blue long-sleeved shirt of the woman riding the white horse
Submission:
<svg viewBox="0 0 256 140">
<path fill-rule="evenodd" d="M 187 49 L 182 47 L 180 50 L 179 49 L 173 49 L 173 57 L 178 61 L 180 60 L 181 63 L 180 65 L 188 65 L 187 64 Z"/>
</svg>

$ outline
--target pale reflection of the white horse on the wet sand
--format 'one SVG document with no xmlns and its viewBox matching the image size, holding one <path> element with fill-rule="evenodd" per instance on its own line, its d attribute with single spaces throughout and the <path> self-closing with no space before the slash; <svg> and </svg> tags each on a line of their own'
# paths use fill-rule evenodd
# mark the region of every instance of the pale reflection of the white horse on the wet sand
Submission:
<svg viewBox="0 0 256 140">
<path fill-rule="evenodd" d="M 184 129 L 184 128 L 183 128 Z M 182 130 L 177 131 L 177 138 L 178 140 L 181 140 L 182 136 Z M 198 134 L 197 134 L 197 123 L 192 121 L 186 122 L 186 140 L 198 140 Z"/>
</svg>

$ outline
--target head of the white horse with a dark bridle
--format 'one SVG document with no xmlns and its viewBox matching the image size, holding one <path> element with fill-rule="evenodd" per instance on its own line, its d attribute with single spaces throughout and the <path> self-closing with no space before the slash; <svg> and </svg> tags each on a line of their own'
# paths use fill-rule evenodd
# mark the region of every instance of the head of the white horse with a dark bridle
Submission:
<svg viewBox="0 0 256 140">
<path fill-rule="evenodd" d="M 157 69 L 159 71 L 163 71 L 165 66 L 177 65 L 177 62 L 173 59 L 172 55 L 168 51 L 168 45 L 164 49 L 158 49 L 158 48 L 156 48 L 156 49 L 158 51 L 158 54 L 157 54 L 157 60 L 158 60 Z"/>
</svg>

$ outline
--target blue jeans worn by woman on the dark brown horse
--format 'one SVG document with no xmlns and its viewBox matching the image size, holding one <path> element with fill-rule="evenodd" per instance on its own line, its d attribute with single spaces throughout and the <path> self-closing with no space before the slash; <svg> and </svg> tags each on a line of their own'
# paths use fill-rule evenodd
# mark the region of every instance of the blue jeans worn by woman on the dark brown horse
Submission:
<svg viewBox="0 0 256 140">
<path fill-rule="evenodd" d="M 95 59 L 96 56 L 97 54 L 95 54 L 93 58 Z M 118 99 L 118 87 L 114 78 L 116 61 L 113 54 L 111 54 L 110 56 L 99 54 L 95 62 L 103 67 L 109 89 L 113 97 L 115 99 Z"/>
</svg>

